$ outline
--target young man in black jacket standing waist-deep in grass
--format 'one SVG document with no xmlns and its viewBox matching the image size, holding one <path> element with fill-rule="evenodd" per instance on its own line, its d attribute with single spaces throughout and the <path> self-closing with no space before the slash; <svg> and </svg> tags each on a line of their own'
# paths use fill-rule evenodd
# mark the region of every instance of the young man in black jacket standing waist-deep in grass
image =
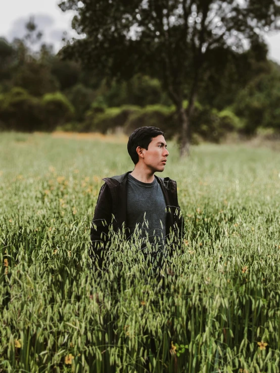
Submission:
<svg viewBox="0 0 280 373">
<path fill-rule="evenodd" d="M 157 127 L 138 128 L 129 136 L 127 150 L 134 170 L 103 179 L 105 184 L 91 224 L 91 256 L 98 259 L 100 268 L 101 250 L 106 249 L 108 242 L 104 237 L 108 236 L 111 222 L 115 232 L 122 230 L 124 223 L 127 239 L 136 228 L 141 237 L 147 237 L 152 246 L 160 250 L 170 229 L 178 231 L 181 238 L 183 235 L 176 182 L 155 175 L 164 171 L 169 155 L 164 133 Z"/>
</svg>

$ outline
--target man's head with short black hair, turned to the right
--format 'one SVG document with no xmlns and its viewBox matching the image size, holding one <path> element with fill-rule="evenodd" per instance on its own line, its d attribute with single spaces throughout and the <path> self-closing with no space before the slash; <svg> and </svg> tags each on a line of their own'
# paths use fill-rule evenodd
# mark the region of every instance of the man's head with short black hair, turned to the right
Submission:
<svg viewBox="0 0 280 373">
<path fill-rule="evenodd" d="M 159 128 L 140 127 L 129 136 L 127 150 L 134 165 L 141 162 L 153 172 L 162 172 L 169 154 L 166 146 L 164 133 Z"/>
</svg>

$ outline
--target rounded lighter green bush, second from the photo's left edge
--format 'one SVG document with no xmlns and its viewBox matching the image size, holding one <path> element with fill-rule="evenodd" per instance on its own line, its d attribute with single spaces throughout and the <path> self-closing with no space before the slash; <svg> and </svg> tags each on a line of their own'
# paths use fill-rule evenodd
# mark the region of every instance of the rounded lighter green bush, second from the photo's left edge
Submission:
<svg viewBox="0 0 280 373">
<path fill-rule="evenodd" d="M 46 93 L 42 97 L 42 104 L 45 131 L 53 131 L 57 126 L 69 122 L 74 117 L 74 106 L 61 92 Z"/>
</svg>

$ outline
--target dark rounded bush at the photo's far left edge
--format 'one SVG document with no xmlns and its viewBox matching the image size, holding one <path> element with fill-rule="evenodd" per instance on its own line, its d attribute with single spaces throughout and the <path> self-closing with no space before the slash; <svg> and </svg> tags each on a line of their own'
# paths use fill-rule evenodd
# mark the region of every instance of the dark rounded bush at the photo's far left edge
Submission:
<svg viewBox="0 0 280 373">
<path fill-rule="evenodd" d="M 1 129 L 32 132 L 42 129 L 43 107 L 41 100 L 25 89 L 12 88 L 0 97 Z"/>
</svg>

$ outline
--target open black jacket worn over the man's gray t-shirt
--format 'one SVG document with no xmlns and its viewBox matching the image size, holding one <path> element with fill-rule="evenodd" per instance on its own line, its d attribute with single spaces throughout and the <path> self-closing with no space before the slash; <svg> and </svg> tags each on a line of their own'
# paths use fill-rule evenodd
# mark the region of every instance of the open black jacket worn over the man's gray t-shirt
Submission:
<svg viewBox="0 0 280 373">
<path fill-rule="evenodd" d="M 106 248 L 106 243 L 109 233 L 109 225 L 112 223 L 113 231 L 122 231 L 126 225 L 126 188 L 127 175 L 131 171 L 120 176 L 103 179 L 105 184 L 99 192 L 97 205 L 95 208 L 94 219 L 90 228 L 91 250 L 90 256 L 99 259 L 99 264 L 102 265 L 100 250 Z M 156 176 L 166 202 L 167 220 L 166 234 L 170 233 L 170 229 L 178 231 L 179 237 L 182 239 L 184 234 L 184 222 L 180 216 L 180 207 L 178 204 L 177 184 L 176 181 L 169 178 L 160 178 Z M 113 217 L 112 217 L 113 215 Z"/>
</svg>

